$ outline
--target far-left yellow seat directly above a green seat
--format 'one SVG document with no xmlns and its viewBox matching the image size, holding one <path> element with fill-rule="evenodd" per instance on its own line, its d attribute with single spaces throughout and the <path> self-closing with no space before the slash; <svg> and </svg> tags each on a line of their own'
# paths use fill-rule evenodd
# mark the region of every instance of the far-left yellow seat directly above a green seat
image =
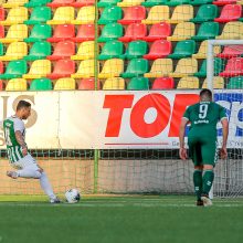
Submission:
<svg viewBox="0 0 243 243">
<path fill-rule="evenodd" d="M 12 42 L 8 46 L 6 54 L 0 56 L 0 61 L 19 60 L 27 54 L 28 54 L 28 45 L 25 42 Z"/>
</svg>

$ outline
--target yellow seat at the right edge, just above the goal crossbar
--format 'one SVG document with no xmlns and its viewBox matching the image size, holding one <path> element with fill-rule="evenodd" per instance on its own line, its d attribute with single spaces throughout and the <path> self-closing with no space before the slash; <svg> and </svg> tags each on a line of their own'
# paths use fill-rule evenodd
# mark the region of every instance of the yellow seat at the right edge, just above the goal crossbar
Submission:
<svg viewBox="0 0 243 243">
<path fill-rule="evenodd" d="M 223 27 L 221 35 L 218 40 L 242 40 L 243 39 L 243 22 L 228 22 Z"/>
</svg>

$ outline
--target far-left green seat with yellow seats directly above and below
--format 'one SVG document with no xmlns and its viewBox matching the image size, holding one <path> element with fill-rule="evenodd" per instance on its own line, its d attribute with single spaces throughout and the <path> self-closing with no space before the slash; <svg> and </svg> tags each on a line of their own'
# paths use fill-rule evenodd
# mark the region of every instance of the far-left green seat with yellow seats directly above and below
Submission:
<svg viewBox="0 0 243 243">
<path fill-rule="evenodd" d="M 23 60 L 11 61 L 6 67 L 6 72 L 0 74 L 0 80 L 22 77 L 28 71 L 27 62 Z"/>
</svg>

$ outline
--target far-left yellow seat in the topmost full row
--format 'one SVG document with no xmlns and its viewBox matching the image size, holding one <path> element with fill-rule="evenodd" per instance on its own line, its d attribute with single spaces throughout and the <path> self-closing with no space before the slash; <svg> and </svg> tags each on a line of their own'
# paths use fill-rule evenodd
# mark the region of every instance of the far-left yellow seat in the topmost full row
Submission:
<svg viewBox="0 0 243 243">
<path fill-rule="evenodd" d="M 0 21 L 0 24 L 12 25 L 23 23 L 25 20 L 28 20 L 28 9 L 24 7 L 19 7 L 10 9 L 7 19 L 4 21 Z"/>
</svg>

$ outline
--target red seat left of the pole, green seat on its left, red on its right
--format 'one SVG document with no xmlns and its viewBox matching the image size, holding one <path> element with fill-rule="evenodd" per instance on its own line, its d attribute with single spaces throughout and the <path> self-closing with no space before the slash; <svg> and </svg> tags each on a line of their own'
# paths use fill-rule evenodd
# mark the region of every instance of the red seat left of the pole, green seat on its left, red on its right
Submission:
<svg viewBox="0 0 243 243">
<path fill-rule="evenodd" d="M 60 42 L 65 40 L 71 40 L 75 36 L 74 24 L 60 24 L 55 28 L 52 38 L 47 38 L 47 42 Z"/>
</svg>

